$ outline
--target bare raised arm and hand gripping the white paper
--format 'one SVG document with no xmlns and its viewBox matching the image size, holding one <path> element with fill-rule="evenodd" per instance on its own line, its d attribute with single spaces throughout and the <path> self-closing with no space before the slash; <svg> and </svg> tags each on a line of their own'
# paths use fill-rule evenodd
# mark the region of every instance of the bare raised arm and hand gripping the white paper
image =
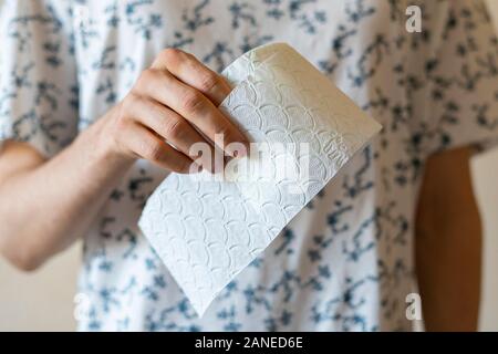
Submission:
<svg viewBox="0 0 498 354">
<path fill-rule="evenodd" d="M 217 108 L 229 92 L 193 55 L 167 49 L 122 102 L 53 158 L 7 142 L 0 155 L 0 252 L 18 268 L 33 270 L 68 248 L 86 233 L 137 158 L 191 173 L 199 165 L 215 170 L 211 142 L 228 156 L 243 156 L 245 136 Z M 195 143 L 209 147 L 208 154 L 191 154 Z"/>
</svg>

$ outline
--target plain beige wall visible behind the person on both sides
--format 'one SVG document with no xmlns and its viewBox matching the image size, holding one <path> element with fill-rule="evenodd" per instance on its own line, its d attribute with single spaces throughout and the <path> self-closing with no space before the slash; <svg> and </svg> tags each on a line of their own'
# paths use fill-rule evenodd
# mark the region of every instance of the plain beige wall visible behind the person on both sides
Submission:
<svg viewBox="0 0 498 354">
<path fill-rule="evenodd" d="M 498 0 L 489 1 L 498 19 Z M 473 162 L 485 222 L 485 282 L 480 329 L 498 331 L 498 149 Z M 80 244 L 43 269 L 21 273 L 0 260 L 0 331 L 72 331 Z"/>
</svg>

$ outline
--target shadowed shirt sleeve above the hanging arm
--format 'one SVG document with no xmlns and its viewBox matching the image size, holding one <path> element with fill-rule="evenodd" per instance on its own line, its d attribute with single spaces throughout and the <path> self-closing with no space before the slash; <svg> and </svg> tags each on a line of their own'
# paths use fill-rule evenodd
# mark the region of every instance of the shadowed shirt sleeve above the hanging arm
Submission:
<svg viewBox="0 0 498 354">
<path fill-rule="evenodd" d="M 498 140 L 498 41 L 481 0 L 434 1 L 425 60 L 423 95 L 415 95 L 414 136 L 429 156 L 460 146 L 494 146 Z M 419 56 L 418 56 L 419 58 Z"/>
</svg>

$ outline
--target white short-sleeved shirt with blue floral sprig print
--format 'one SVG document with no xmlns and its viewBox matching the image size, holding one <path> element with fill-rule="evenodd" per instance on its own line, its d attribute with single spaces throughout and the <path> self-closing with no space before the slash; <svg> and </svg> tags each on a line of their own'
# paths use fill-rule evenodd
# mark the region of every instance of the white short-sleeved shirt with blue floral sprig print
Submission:
<svg viewBox="0 0 498 354">
<path fill-rule="evenodd" d="M 84 242 L 81 330 L 411 330 L 414 215 L 426 158 L 498 136 L 497 41 L 481 1 L 0 2 L 0 139 L 51 157 L 167 46 L 220 71 L 288 42 L 383 126 L 198 319 L 137 228 L 165 170 L 139 160 Z M 91 148 L 89 146 L 89 148 Z"/>
</svg>

